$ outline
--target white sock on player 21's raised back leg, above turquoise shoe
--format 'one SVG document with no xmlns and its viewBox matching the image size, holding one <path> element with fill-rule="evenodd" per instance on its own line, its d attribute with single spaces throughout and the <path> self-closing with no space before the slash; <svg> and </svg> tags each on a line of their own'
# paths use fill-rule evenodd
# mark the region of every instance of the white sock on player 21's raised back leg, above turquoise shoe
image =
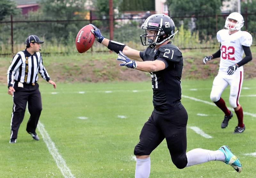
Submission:
<svg viewBox="0 0 256 178">
<path fill-rule="evenodd" d="M 201 164 L 208 161 L 226 161 L 225 154 L 220 150 L 212 151 L 212 150 L 204 150 L 201 148 L 196 148 L 190 150 L 187 153 L 188 164 L 186 167 L 193 166 L 196 164 Z"/>
</svg>

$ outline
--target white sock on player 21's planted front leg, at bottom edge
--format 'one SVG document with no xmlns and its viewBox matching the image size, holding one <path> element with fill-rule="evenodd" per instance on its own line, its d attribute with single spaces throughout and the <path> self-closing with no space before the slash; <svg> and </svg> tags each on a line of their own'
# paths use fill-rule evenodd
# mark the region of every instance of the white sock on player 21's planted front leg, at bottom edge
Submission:
<svg viewBox="0 0 256 178">
<path fill-rule="evenodd" d="M 148 178 L 150 174 L 150 157 L 146 159 L 137 158 L 135 178 Z"/>
</svg>

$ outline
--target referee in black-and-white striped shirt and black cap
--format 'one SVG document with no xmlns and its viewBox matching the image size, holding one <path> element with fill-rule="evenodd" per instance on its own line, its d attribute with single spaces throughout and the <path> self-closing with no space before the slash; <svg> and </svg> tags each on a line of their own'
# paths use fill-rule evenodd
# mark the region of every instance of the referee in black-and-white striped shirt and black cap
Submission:
<svg viewBox="0 0 256 178">
<path fill-rule="evenodd" d="M 36 35 L 29 35 L 26 39 L 26 49 L 16 53 L 7 71 L 8 94 L 13 97 L 11 117 L 10 143 L 16 143 L 18 130 L 24 118 L 26 105 L 30 117 L 27 124 L 27 132 L 33 139 L 39 140 L 36 134 L 36 126 L 42 110 L 42 100 L 37 83 L 38 72 L 47 82 L 56 88 L 43 66 L 43 59 L 39 53 L 40 44 L 44 43 Z"/>
</svg>

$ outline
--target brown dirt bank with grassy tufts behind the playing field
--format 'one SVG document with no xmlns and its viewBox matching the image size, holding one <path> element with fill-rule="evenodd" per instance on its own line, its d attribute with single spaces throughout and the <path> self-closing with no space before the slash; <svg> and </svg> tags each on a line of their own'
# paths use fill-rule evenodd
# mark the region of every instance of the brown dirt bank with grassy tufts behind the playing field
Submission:
<svg viewBox="0 0 256 178">
<path fill-rule="evenodd" d="M 255 56 L 255 55 L 253 55 Z M 203 64 L 202 59 L 184 55 L 183 79 L 213 78 L 218 73 L 220 59 Z M 61 61 L 61 60 L 60 60 Z M 0 83 L 6 84 L 6 72 L 10 61 L 0 65 Z M 79 64 L 79 65 L 78 65 Z M 106 60 L 83 60 L 79 63 L 70 61 L 45 64 L 47 72 L 55 82 L 108 82 L 108 81 L 150 81 L 147 72 L 120 67 L 116 58 Z M 39 76 L 40 77 L 40 76 Z M 244 65 L 244 78 L 256 77 L 256 58 Z M 40 77 L 41 78 L 41 77 Z"/>
</svg>

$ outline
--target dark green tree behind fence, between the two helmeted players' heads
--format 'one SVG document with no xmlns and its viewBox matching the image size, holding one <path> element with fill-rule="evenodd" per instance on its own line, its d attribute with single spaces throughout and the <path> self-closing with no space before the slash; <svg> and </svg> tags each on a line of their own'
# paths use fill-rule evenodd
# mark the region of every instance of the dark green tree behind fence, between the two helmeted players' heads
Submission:
<svg viewBox="0 0 256 178">
<path fill-rule="evenodd" d="M 169 15 L 173 17 L 176 26 L 184 24 L 185 28 L 190 29 L 191 20 L 194 20 L 196 26 L 193 30 L 199 30 L 201 38 L 205 35 L 216 35 L 215 15 L 220 15 L 221 13 L 222 0 L 167 0 L 166 3 L 169 7 Z M 175 18 L 184 16 L 188 18 Z M 220 30 L 224 26 L 223 21 L 225 20 L 223 18 L 218 18 L 217 20 L 217 30 Z"/>
</svg>

